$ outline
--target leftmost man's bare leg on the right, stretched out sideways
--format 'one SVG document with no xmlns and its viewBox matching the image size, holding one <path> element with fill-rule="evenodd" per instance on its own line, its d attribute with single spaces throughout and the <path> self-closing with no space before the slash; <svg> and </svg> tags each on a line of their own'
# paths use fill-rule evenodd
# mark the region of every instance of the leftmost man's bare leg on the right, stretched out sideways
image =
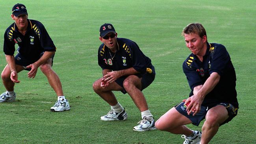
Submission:
<svg viewBox="0 0 256 144">
<path fill-rule="evenodd" d="M 50 86 L 56 92 L 57 96 L 63 96 L 63 90 L 59 76 L 52 70 L 52 58 L 48 59 L 46 63 L 40 66 L 41 71 L 47 77 Z"/>
</svg>

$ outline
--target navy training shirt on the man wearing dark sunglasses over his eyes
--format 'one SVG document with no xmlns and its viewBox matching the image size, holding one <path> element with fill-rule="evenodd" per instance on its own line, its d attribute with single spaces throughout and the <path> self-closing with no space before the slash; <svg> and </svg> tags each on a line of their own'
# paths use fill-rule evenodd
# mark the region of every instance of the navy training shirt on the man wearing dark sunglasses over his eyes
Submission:
<svg viewBox="0 0 256 144">
<path fill-rule="evenodd" d="M 98 65 L 102 70 L 117 71 L 133 67 L 138 72 L 145 73 L 147 68 L 152 66 L 151 60 L 141 52 L 134 41 L 117 38 L 117 43 L 119 47 L 116 54 L 111 52 L 104 43 L 100 45 L 98 49 Z"/>
</svg>

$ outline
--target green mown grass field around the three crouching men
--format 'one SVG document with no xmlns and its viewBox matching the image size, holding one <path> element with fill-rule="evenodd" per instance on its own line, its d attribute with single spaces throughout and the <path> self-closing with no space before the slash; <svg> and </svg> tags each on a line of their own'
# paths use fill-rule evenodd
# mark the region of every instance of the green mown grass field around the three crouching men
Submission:
<svg viewBox="0 0 256 144">
<path fill-rule="evenodd" d="M 6 60 L 3 35 L 13 22 L 18 1 L 0 2 L 0 71 Z M 22 0 L 28 17 L 41 21 L 57 47 L 53 69 L 59 75 L 71 110 L 50 112 L 57 100 L 39 70 L 35 79 L 19 73 L 17 99 L 0 103 L 1 144 L 182 144 L 180 135 L 135 132 L 141 114 L 128 94 L 115 92 L 128 120 L 104 122 L 109 105 L 92 89 L 102 76 L 97 62 L 99 28 L 112 23 L 118 37 L 131 39 L 150 57 L 156 79 L 143 90 L 157 120 L 187 98 L 189 85 L 182 63 L 190 54 L 182 29 L 191 22 L 206 28 L 209 42 L 226 46 L 237 74 L 238 115 L 220 127 L 211 144 L 252 144 L 256 139 L 256 1 L 255 0 Z M 0 92 L 5 88 L 1 82 Z M 200 130 L 188 125 L 189 128 Z"/>
</svg>

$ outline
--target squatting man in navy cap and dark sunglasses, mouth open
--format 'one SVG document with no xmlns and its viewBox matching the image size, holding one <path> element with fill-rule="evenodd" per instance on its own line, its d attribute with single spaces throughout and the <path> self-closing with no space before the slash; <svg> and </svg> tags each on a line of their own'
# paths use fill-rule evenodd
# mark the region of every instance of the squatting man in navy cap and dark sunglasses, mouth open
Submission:
<svg viewBox="0 0 256 144">
<path fill-rule="evenodd" d="M 105 100 L 111 110 L 101 120 L 126 120 L 127 114 L 117 101 L 113 90 L 128 93 L 135 105 L 141 111 L 142 120 L 134 131 L 154 130 L 155 121 L 148 109 L 146 99 L 141 92 L 155 79 L 154 66 L 145 56 L 139 46 L 124 38 L 117 38 L 117 32 L 112 24 L 100 26 L 100 41 L 103 44 L 98 49 L 98 65 L 102 68 L 103 77 L 93 83 L 94 91 Z"/>
</svg>

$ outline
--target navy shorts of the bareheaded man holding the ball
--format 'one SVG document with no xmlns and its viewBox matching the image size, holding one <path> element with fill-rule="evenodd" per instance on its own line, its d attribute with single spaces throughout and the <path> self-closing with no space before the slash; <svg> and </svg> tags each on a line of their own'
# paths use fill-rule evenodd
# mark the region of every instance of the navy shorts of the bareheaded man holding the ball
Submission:
<svg viewBox="0 0 256 144">
<path fill-rule="evenodd" d="M 204 107 L 204 106 L 201 105 L 200 111 L 195 116 L 193 116 L 193 114 L 190 114 L 190 115 L 187 114 L 186 107 L 184 107 L 184 103 L 185 102 L 182 102 L 182 103 L 176 105 L 175 109 L 179 113 L 181 113 L 182 115 L 189 118 L 189 120 L 191 120 L 193 125 L 198 126 L 200 124 L 200 122 L 202 120 L 204 120 L 204 118 L 206 116 L 206 113 L 208 111 L 208 107 Z M 237 115 L 237 110 L 238 109 L 235 108 L 232 104 L 230 104 L 230 103 L 219 103 L 217 105 L 223 105 L 226 108 L 226 110 L 228 111 L 228 116 L 229 116 L 228 119 L 226 119 L 222 124 L 220 124 L 220 126 L 225 124 L 225 123 L 228 123 L 230 120 L 232 120 Z M 215 106 L 217 106 L 217 105 L 215 105 Z"/>
</svg>

